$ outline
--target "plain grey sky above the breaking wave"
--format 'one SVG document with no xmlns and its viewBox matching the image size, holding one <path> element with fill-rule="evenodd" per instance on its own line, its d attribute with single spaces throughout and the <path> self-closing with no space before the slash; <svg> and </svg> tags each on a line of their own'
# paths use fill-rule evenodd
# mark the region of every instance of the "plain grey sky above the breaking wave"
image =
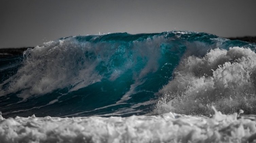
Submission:
<svg viewBox="0 0 256 143">
<path fill-rule="evenodd" d="M 256 35 L 255 15 L 256 0 L 0 0 L 0 48 L 99 31 Z"/>
</svg>

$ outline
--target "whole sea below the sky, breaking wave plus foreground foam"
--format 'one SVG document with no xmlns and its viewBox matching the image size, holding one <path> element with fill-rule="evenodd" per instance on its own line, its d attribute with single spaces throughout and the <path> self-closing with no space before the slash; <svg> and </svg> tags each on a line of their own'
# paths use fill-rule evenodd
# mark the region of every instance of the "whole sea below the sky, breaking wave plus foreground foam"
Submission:
<svg viewBox="0 0 256 143">
<path fill-rule="evenodd" d="M 0 142 L 256 142 L 255 50 L 190 31 L 45 42 L 0 59 Z"/>
</svg>

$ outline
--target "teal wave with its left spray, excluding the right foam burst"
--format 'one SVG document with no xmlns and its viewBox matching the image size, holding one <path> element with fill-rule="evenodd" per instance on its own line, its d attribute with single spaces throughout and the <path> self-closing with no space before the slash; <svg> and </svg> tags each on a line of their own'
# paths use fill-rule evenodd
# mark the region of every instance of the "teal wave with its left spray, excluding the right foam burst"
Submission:
<svg viewBox="0 0 256 143">
<path fill-rule="evenodd" d="M 255 47 L 179 31 L 60 38 L 1 59 L 0 109 L 7 117 L 151 113 L 183 59 L 234 46 Z"/>
</svg>

